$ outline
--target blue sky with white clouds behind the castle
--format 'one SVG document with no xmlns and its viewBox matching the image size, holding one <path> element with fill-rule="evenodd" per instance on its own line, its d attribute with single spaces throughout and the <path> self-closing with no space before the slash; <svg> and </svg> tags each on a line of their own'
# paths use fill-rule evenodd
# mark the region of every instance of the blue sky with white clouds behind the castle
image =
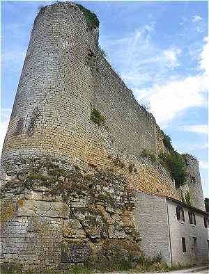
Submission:
<svg viewBox="0 0 209 274">
<path fill-rule="evenodd" d="M 40 6 L 1 1 L 1 146 Z M 108 61 L 178 152 L 199 159 L 208 197 L 209 40 L 207 1 L 79 1 L 100 19 Z"/>
</svg>

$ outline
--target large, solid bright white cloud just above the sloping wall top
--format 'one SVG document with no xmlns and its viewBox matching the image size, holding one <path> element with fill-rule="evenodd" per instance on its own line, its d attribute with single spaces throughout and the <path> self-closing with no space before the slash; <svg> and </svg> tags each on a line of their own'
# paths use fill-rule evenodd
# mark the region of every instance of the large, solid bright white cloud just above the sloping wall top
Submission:
<svg viewBox="0 0 209 274">
<path fill-rule="evenodd" d="M 134 94 L 139 102 L 150 102 L 150 111 L 157 122 L 165 126 L 185 109 L 207 104 L 208 85 L 206 76 L 193 76 L 165 85 L 153 85 L 146 90 L 134 89 Z"/>
</svg>

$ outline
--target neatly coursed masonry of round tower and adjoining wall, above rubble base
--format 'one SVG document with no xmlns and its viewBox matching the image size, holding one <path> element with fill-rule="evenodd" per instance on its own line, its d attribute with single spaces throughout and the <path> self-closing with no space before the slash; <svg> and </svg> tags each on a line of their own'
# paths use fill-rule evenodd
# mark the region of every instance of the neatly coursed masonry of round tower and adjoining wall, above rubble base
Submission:
<svg viewBox="0 0 209 274">
<path fill-rule="evenodd" d="M 106 118 L 100 126 L 89 120 L 93 106 Z M 109 155 L 121 155 L 122 173 L 130 175 L 130 164 L 138 170 L 127 179 L 132 187 L 176 198 L 168 172 L 140 158 L 144 149 L 157 152 L 156 127 L 153 115 L 98 54 L 98 30 L 88 29 L 79 8 L 62 3 L 40 10 L 1 163 L 49 155 L 79 166 L 112 168 Z"/>
</svg>

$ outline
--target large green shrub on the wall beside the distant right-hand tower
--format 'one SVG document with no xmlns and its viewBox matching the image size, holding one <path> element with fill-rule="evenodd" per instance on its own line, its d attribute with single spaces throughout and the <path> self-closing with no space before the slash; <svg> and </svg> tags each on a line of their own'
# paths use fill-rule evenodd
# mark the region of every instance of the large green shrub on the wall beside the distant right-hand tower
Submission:
<svg viewBox="0 0 209 274">
<path fill-rule="evenodd" d="M 176 187 L 183 186 L 187 182 L 189 173 L 183 157 L 178 152 L 162 153 L 159 155 L 159 161 L 164 168 L 169 170 L 171 177 L 175 179 Z"/>
</svg>

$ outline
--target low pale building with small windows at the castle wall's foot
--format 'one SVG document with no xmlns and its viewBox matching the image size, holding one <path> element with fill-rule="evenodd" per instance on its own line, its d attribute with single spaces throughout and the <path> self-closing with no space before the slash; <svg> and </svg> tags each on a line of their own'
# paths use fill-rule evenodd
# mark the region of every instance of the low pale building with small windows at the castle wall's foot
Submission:
<svg viewBox="0 0 209 274">
<path fill-rule="evenodd" d="M 168 266 L 208 261 L 208 213 L 169 197 L 137 193 L 134 222 L 148 257 L 161 253 Z"/>
</svg>

